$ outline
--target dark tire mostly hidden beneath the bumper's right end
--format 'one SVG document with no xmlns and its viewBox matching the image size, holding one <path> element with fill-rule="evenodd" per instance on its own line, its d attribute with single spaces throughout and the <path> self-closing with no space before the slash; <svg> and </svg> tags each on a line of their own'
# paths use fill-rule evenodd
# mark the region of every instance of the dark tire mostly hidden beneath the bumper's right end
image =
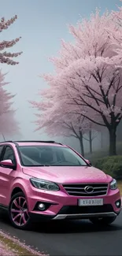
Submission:
<svg viewBox="0 0 122 256">
<path fill-rule="evenodd" d="M 92 217 L 90 221 L 95 225 L 108 225 L 112 224 L 116 220 L 116 217 Z"/>
</svg>

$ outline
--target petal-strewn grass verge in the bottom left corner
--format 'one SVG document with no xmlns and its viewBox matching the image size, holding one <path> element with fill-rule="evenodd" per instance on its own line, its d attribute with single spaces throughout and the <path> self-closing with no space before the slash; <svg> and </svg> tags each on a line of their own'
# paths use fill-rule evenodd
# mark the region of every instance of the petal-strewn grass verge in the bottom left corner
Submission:
<svg viewBox="0 0 122 256">
<path fill-rule="evenodd" d="M 26 246 L 24 243 L 20 243 L 19 239 L 13 238 L 2 231 L 0 231 L 0 241 L 6 247 L 6 250 L 11 251 L 11 255 L 13 253 L 13 255 L 17 256 L 44 256 L 44 254 L 31 249 L 31 247 Z"/>
</svg>

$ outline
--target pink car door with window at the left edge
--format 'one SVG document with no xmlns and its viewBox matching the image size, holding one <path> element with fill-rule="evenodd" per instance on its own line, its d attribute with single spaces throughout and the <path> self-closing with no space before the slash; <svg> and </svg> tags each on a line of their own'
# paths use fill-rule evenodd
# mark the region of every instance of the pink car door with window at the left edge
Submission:
<svg viewBox="0 0 122 256">
<path fill-rule="evenodd" d="M 2 153 L 2 160 L 11 160 L 16 162 L 13 147 L 6 146 Z M 0 166 L 0 204 L 7 206 L 11 183 L 15 176 L 15 170 Z"/>
</svg>

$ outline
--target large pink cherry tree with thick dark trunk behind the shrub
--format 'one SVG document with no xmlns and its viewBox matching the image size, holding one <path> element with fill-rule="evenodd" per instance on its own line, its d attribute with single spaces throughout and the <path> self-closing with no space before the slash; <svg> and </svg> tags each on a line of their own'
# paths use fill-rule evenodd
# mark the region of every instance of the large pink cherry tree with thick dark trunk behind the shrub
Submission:
<svg viewBox="0 0 122 256">
<path fill-rule="evenodd" d="M 68 87 L 68 104 L 79 106 L 76 114 L 82 113 L 94 124 L 108 128 L 109 154 L 116 154 L 116 128 L 122 117 L 121 70 L 116 72 L 115 65 L 116 62 L 113 65 L 105 63 L 103 58 L 87 58 L 82 62 L 76 61 L 67 72 L 61 74 L 61 80 L 55 80 L 58 86 L 63 83 L 63 95 Z M 83 106 L 87 109 L 87 116 L 82 111 Z M 94 116 L 90 110 L 92 113 L 94 110 Z M 101 122 L 97 119 L 97 113 L 102 117 Z"/>
</svg>

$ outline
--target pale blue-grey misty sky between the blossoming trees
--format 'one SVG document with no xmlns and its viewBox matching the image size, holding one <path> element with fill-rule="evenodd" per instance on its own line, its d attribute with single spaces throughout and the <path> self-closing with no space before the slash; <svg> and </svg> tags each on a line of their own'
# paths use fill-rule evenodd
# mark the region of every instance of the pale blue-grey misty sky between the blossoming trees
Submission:
<svg viewBox="0 0 122 256">
<path fill-rule="evenodd" d="M 17 95 L 14 107 L 22 139 L 47 139 L 46 135 L 40 137 L 39 132 L 33 132 L 35 124 L 31 121 L 35 118 L 35 109 L 31 109 L 28 100 L 39 99 L 38 91 L 46 87 L 39 75 L 54 71 L 47 58 L 57 56 L 61 39 L 72 40 L 68 24 L 76 24 L 80 16 L 89 17 L 96 7 L 101 7 L 103 13 L 105 9 L 116 9 L 116 5 L 120 6 L 119 0 L 0 0 L 0 17 L 18 16 L 15 23 L 1 33 L 1 40 L 22 37 L 20 43 L 10 48 L 11 52 L 23 51 L 17 58 L 20 64 L 0 64 L 2 72 L 9 72 L 7 88 Z"/>
</svg>

